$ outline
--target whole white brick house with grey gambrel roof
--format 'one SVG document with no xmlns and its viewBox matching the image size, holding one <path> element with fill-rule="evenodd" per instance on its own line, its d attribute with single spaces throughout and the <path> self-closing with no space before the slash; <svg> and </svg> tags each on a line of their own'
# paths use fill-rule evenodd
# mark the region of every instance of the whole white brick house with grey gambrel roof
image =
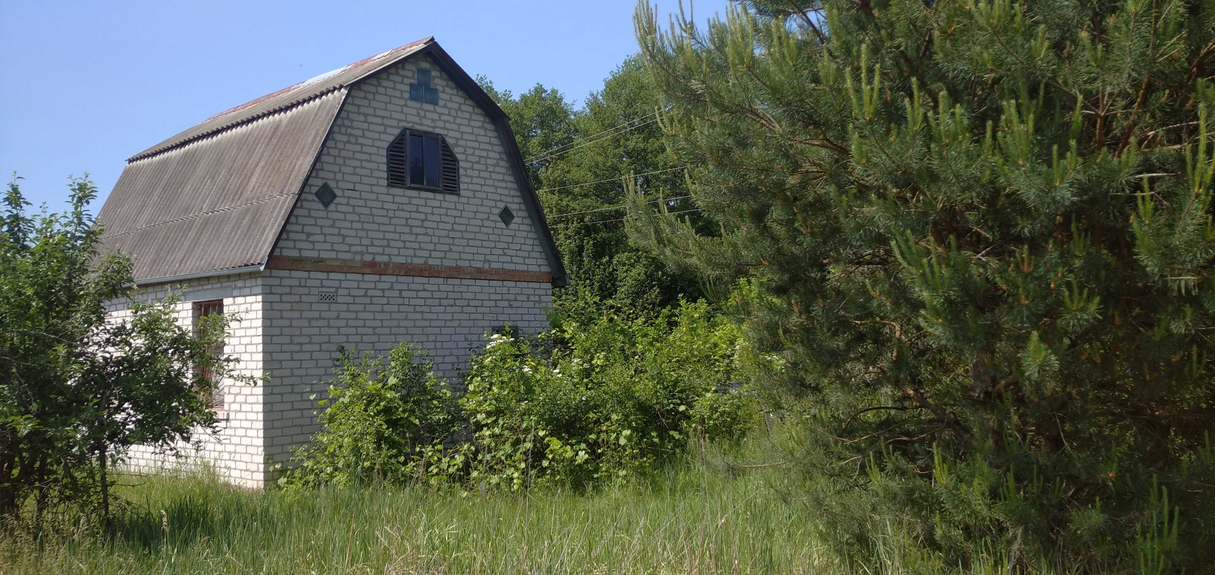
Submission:
<svg viewBox="0 0 1215 575">
<path fill-rule="evenodd" d="M 428 38 L 128 160 L 97 216 L 104 249 L 132 255 L 136 297 L 183 289 L 182 322 L 239 316 L 225 353 L 269 378 L 225 387 L 203 458 L 234 483 L 272 481 L 316 430 L 310 395 L 339 345 L 407 339 L 452 377 L 484 332 L 547 326 L 565 271 L 507 120 Z"/>
</svg>

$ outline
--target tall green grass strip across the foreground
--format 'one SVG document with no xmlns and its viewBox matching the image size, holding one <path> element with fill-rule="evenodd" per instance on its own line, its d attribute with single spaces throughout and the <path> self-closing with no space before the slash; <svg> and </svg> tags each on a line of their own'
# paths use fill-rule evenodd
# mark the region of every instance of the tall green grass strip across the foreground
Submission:
<svg viewBox="0 0 1215 575">
<path fill-rule="evenodd" d="M 779 468 L 706 467 L 594 494 L 249 492 L 141 478 L 117 536 L 0 542 L 5 574 L 840 573 Z"/>
</svg>

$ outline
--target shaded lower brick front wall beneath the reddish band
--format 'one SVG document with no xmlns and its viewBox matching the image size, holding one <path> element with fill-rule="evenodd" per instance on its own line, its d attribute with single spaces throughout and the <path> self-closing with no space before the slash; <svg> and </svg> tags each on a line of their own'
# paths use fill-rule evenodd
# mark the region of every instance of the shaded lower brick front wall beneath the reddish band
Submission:
<svg viewBox="0 0 1215 575">
<path fill-rule="evenodd" d="M 384 353 L 408 340 L 430 354 L 435 370 L 454 379 L 482 334 L 503 323 L 535 333 L 552 306 L 546 283 L 266 270 L 266 450 L 286 461 L 288 449 L 316 432 L 316 400 L 324 398 L 339 345 Z M 333 301 L 321 301 L 322 293 Z"/>
</svg>

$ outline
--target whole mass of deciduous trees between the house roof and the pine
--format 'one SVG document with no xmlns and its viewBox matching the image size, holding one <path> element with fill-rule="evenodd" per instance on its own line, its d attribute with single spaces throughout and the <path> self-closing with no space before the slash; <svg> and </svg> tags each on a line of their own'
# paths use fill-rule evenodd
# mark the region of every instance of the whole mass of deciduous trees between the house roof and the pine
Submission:
<svg viewBox="0 0 1215 575">
<path fill-rule="evenodd" d="M 640 60 L 626 60 L 581 109 L 541 85 L 516 96 L 479 80 L 510 115 L 532 185 L 577 286 L 554 294 L 560 317 L 584 321 L 605 308 L 655 315 L 680 297 L 702 294 L 693 275 L 672 271 L 629 243 L 622 225 L 626 182 L 651 201 L 686 196 L 683 170 L 667 153 L 656 122 L 659 92 Z M 666 204 L 679 209 L 686 202 Z"/>
</svg>

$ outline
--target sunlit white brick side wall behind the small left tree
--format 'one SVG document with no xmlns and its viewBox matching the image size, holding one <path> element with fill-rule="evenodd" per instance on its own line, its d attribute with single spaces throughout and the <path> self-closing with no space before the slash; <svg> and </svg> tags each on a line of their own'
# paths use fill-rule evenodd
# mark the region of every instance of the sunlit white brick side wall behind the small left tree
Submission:
<svg viewBox="0 0 1215 575">
<path fill-rule="evenodd" d="M 236 371 L 245 376 L 261 377 L 264 373 L 262 332 L 262 283 L 256 274 L 221 276 L 193 280 L 174 286 L 152 286 L 140 289 L 135 298 L 159 300 L 171 293 L 182 295 L 177 304 L 177 322 L 191 326 L 194 303 L 222 300 L 224 312 L 233 320 L 228 325 L 228 337 L 224 353 L 239 359 Z M 112 321 L 130 316 L 130 301 L 114 300 L 108 304 Z M 262 436 L 262 393 L 265 385 L 244 385 L 226 382 L 224 407 L 219 410 L 220 433 L 215 436 L 199 435 L 197 446 L 180 445 L 182 457 L 173 458 L 149 447 L 136 447 L 129 453 L 128 467 L 135 470 L 164 470 L 188 467 L 200 461 L 209 462 L 216 472 L 230 481 L 249 487 L 261 487 L 267 480 L 266 456 Z"/>
</svg>

